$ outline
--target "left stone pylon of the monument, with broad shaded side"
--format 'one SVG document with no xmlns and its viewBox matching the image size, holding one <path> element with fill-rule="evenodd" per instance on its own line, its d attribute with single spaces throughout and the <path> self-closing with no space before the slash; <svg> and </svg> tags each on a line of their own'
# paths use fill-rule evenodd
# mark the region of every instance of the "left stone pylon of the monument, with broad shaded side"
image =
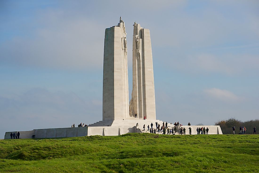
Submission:
<svg viewBox="0 0 259 173">
<path fill-rule="evenodd" d="M 103 58 L 103 121 L 129 117 L 128 60 L 125 23 L 105 29 Z"/>
</svg>

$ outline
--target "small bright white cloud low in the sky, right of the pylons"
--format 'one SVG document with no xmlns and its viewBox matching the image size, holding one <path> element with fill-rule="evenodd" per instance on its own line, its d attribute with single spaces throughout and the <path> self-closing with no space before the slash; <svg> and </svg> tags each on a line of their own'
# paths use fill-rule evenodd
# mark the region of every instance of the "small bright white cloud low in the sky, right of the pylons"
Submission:
<svg viewBox="0 0 259 173">
<path fill-rule="evenodd" d="M 218 88 L 211 88 L 211 89 L 206 89 L 204 92 L 212 97 L 216 98 L 222 101 L 239 101 L 241 98 L 236 96 L 234 93 L 228 91 L 228 90 L 221 90 Z"/>
</svg>

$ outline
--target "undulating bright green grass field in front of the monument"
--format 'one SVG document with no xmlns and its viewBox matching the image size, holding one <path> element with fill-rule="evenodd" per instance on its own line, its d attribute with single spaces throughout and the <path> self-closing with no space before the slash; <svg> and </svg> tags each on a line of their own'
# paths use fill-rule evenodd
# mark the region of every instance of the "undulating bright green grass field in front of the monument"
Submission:
<svg viewBox="0 0 259 173">
<path fill-rule="evenodd" d="M 0 172 L 259 172 L 259 135 L 0 140 Z"/>
</svg>

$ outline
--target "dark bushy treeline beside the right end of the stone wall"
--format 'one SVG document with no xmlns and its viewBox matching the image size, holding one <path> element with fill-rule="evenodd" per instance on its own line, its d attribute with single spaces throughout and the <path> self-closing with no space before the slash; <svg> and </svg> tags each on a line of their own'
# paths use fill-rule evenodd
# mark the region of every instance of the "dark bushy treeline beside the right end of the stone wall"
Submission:
<svg viewBox="0 0 259 173">
<path fill-rule="evenodd" d="M 229 118 L 227 120 L 220 120 L 215 122 L 215 125 L 219 125 L 221 127 L 223 134 L 233 134 L 232 127 L 235 126 L 235 133 L 239 133 L 239 126 L 246 127 L 246 134 L 253 134 L 254 127 L 259 129 L 259 119 L 250 120 L 250 121 L 240 121 L 235 118 Z"/>
</svg>

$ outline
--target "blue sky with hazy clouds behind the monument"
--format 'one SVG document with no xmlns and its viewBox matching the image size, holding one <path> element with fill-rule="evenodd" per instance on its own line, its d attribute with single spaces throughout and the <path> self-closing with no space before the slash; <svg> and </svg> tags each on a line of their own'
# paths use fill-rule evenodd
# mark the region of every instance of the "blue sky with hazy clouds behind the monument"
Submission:
<svg viewBox="0 0 259 173">
<path fill-rule="evenodd" d="M 0 138 L 102 120 L 104 33 L 120 16 L 128 50 L 134 21 L 150 30 L 157 119 L 258 119 L 258 9 L 258 1 L 0 1 Z"/>
</svg>

